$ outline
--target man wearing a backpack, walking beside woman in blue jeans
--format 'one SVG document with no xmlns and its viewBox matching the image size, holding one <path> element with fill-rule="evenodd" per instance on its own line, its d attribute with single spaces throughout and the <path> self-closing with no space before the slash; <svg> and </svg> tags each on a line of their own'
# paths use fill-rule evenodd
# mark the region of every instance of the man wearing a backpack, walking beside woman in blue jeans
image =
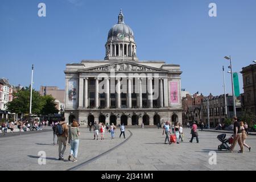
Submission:
<svg viewBox="0 0 256 182">
<path fill-rule="evenodd" d="M 59 143 L 59 160 L 64 160 L 64 152 L 66 150 L 68 140 L 68 125 L 65 122 L 65 117 L 62 117 L 60 123 L 57 124 L 56 135 Z M 61 150 L 62 145 L 64 147 Z"/>
</svg>

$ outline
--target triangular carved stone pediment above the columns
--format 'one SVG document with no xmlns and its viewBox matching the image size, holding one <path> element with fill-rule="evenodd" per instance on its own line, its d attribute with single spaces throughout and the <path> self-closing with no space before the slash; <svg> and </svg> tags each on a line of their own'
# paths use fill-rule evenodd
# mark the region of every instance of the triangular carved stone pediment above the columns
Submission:
<svg viewBox="0 0 256 182">
<path fill-rule="evenodd" d="M 97 67 L 85 68 L 81 69 L 79 72 L 110 72 L 111 70 L 114 70 L 115 72 L 168 72 L 164 69 L 154 68 L 138 63 L 131 63 L 129 61 L 121 61 L 118 63 L 110 63 Z"/>
</svg>

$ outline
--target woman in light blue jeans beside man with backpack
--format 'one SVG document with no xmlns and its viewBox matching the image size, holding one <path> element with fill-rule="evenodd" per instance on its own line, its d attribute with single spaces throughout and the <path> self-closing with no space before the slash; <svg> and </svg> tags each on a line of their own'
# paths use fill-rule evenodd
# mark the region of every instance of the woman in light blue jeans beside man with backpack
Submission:
<svg viewBox="0 0 256 182">
<path fill-rule="evenodd" d="M 79 136 L 80 136 L 80 131 L 79 131 L 79 124 L 77 121 L 73 121 L 72 126 L 69 128 L 69 133 L 68 133 L 68 143 L 70 143 L 71 149 L 70 153 L 68 156 L 68 160 L 71 161 L 72 156 L 73 162 L 77 162 L 77 152 L 79 149 Z"/>
</svg>

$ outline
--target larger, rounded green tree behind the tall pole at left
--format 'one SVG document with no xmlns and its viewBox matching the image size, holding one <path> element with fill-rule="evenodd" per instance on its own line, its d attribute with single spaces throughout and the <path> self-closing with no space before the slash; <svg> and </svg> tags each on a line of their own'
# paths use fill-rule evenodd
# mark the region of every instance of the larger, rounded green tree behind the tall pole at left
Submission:
<svg viewBox="0 0 256 182">
<path fill-rule="evenodd" d="M 39 92 L 32 89 L 32 114 L 40 114 L 46 101 Z M 18 90 L 14 93 L 14 99 L 8 102 L 7 108 L 12 113 L 30 113 L 30 87 Z"/>
</svg>

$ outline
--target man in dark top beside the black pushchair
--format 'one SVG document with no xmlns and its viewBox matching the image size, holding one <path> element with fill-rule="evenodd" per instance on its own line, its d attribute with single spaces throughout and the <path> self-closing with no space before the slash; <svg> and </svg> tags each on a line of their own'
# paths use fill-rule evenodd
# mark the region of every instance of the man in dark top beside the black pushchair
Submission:
<svg viewBox="0 0 256 182">
<path fill-rule="evenodd" d="M 230 152 L 233 152 L 234 147 L 236 146 L 237 142 L 240 145 L 240 151 L 239 153 L 243 153 L 243 142 L 242 142 L 242 131 L 241 131 L 241 126 L 240 123 L 237 121 L 237 117 L 233 118 L 234 121 L 234 140 L 232 147 L 230 149 Z"/>
</svg>

